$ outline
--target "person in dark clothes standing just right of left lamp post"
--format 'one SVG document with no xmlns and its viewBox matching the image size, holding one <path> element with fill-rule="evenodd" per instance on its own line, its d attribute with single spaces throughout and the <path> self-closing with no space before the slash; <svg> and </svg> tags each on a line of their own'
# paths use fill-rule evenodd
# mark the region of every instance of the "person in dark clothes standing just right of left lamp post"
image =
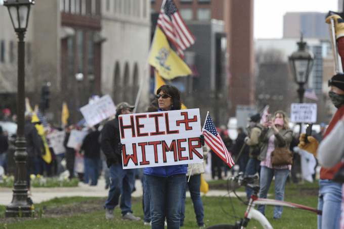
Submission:
<svg viewBox="0 0 344 229">
<path fill-rule="evenodd" d="M 41 157 L 41 137 L 38 135 L 37 129 L 33 123 L 31 123 L 33 113 L 31 111 L 25 112 L 24 122 L 24 135 L 26 140 L 26 177 L 28 195 L 31 195 L 30 191 L 30 175 L 34 174 L 35 171 L 35 158 Z"/>
</svg>

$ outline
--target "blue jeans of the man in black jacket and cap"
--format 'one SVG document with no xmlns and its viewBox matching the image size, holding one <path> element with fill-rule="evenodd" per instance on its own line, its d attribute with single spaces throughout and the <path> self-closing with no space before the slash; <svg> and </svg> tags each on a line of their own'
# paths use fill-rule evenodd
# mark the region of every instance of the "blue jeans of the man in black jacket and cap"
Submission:
<svg viewBox="0 0 344 229">
<path fill-rule="evenodd" d="M 110 177 L 111 184 L 108 199 L 105 202 L 104 208 L 114 209 L 118 205 L 119 196 L 120 198 L 120 209 L 122 215 L 132 211 L 132 191 L 133 191 L 133 180 L 134 170 L 123 169 L 122 163 L 112 164 L 110 166 Z"/>
</svg>

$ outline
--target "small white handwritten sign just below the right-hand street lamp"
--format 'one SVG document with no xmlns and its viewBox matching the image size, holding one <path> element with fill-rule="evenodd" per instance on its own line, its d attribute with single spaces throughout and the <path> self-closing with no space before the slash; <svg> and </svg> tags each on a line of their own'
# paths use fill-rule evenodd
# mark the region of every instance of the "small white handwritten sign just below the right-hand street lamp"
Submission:
<svg viewBox="0 0 344 229">
<path fill-rule="evenodd" d="M 295 123 L 316 123 L 316 103 L 291 103 L 290 120 Z"/>
</svg>

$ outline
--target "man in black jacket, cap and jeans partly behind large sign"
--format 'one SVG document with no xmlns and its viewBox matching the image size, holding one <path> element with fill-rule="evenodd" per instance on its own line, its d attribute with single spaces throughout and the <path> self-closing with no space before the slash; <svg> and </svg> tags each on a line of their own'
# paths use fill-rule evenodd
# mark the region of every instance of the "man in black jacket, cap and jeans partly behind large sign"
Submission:
<svg viewBox="0 0 344 229">
<path fill-rule="evenodd" d="M 105 202 L 106 219 L 114 219 L 113 210 L 118 205 L 119 196 L 120 208 L 123 220 L 140 220 L 140 217 L 133 215 L 132 211 L 132 190 L 134 188 L 134 169 L 122 168 L 122 156 L 118 147 L 120 143 L 118 116 L 133 113 L 134 106 L 127 102 L 121 102 L 116 107 L 116 117 L 108 121 L 101 133 L 101 148 L 106 156 L 106 163 L 110 170 L 111 184 L 108 199 Z"/>
</svg>

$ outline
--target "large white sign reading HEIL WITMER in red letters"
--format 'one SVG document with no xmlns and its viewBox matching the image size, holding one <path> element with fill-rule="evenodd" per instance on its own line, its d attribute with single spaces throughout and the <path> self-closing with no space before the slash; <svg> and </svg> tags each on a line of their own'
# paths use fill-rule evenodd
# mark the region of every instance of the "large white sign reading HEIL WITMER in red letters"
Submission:
<svg viewBox="0 0 344 229">
<path fill-rule="evenodd" d="M 203 162 L 199 109 L 119 116 L 123 168 Z"/>
</svg>

